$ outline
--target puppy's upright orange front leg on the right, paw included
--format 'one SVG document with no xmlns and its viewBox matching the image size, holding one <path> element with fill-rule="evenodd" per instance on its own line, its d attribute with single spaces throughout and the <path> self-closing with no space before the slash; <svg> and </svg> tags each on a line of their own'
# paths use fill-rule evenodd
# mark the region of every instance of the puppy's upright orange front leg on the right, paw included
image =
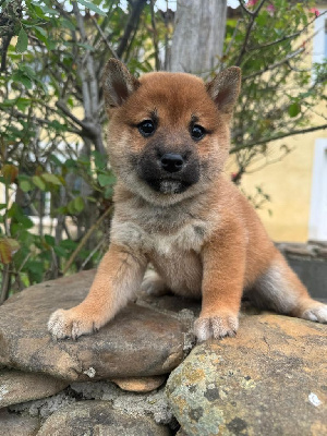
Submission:
<svg viewBox="0 0 327 436">
<path fill-rule="evenodd" d="M 235 335 L 244 271 L 242 231 L 223 229 L 203 250 L 202 311 L 194 325 L 198 341 Z"/>
</svg>

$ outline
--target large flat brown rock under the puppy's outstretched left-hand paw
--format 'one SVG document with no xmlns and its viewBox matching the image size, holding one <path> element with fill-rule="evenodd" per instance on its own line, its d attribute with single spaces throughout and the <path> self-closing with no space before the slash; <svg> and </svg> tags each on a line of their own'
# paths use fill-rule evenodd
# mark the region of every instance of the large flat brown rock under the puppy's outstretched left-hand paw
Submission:
<svg viewBox="0 0 327 436">
<path fill-rule="evenodd" d="M 9 299 L 0 307 L 0 364 L 66 380 L 152 376 L 174 368 L 184 355 L 184 324 L 134 303 L 96 335 L 51 339 L 50 314 L 81 302 L 94 274 L 36 284 Z"/>
</svg>

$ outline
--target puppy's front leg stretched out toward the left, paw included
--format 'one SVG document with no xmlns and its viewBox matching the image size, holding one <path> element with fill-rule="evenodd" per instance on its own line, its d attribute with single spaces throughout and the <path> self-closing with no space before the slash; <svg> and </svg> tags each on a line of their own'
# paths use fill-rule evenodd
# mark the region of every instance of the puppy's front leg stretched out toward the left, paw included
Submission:
<svg viewBox="0 0 327 436">
<path fill-rule="evenodd" d="M 48 329 L 52 337 L 76 339 L 108 323 L 141 287 L 146 264 L 143 254 L 111 244 L 86 299 L 73 308 L 60 308 L 50 316 Z"/>
</svg>

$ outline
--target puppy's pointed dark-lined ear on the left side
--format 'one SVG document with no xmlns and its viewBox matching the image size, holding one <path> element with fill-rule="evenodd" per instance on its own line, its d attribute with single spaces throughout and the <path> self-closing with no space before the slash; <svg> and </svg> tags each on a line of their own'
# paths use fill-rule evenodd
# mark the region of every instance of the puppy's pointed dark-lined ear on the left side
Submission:
<svg viewBox="0 0 327 436">
<path fill-rule="evenodd" d="M 126 66 L 117 59 L 109 59 L 102 75 L 105 104 L 108 109 L 121 106 L 134 90 L 140 82 Z"/>
</svg>

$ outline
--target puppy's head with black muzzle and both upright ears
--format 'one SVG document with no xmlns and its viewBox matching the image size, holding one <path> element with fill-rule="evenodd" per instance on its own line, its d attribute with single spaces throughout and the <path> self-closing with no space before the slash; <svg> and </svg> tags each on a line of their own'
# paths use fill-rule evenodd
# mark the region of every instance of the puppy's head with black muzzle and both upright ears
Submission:
<svg viewBox="0 0 327 436">
<path fill-rule="evenodd" d="M 104 74 L 112 168 L 126 187 L 157 205 L 204 192 L 222 170 L 240 69 L 207 85 L 191 74 L 148 73 L 136 80 L 110 59 Z"/>
</svg>

